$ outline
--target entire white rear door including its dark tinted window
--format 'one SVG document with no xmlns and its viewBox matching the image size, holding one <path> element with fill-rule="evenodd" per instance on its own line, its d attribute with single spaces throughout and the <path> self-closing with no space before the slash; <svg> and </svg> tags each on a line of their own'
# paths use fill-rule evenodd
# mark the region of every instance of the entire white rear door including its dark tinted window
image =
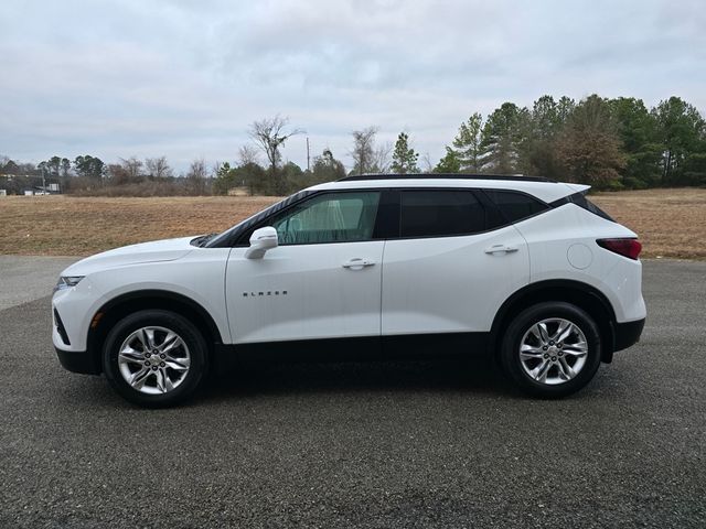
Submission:
<svg viewBox="0 0 706 529">
<path fill-rule="evenodd" d="M 399 192 L 399 237 L 383 263 L 382 334 L 490 331 L 530 280 L 527 245 L 482 193 Z"/>
</svg>

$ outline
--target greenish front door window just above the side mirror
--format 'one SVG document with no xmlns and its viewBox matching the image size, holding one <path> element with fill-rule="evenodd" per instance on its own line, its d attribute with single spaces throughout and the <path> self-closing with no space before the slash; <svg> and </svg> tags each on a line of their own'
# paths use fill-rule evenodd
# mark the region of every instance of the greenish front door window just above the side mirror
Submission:
<svg viewBox="0 0 706 529">
<path fill-rule="evenodd" d="M 353 242 L 373 237 L 379 192 L 317 195 L 276 215 L 280 246 Z"/>
</svg>

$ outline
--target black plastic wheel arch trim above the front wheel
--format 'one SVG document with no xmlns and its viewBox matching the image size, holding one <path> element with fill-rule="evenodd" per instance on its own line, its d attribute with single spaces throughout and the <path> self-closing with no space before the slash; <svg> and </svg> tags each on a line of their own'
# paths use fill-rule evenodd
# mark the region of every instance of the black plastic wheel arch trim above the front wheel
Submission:
<svg viewBox="0 0 706 529">
<path fill-rule="evenodd" d="M 200 303 L 175 292 L 167 290 L 141 290 L 120 294 L 106 302 L 96 311 L 88 327 L 87 350 L 97 357 L 96 365 L 101 369 L 100 354 L 110 328 L 137 311 L 161 309 L 191 321 L 203 333 L 210 353 L 214 346 L 223 344 L 223 337 L 215 321 Z"/>
</svg>

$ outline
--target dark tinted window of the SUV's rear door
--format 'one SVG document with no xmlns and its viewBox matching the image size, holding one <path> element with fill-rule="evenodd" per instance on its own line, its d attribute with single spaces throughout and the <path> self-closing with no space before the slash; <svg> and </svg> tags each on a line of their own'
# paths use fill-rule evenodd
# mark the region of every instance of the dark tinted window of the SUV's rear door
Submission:
<svg viewBox="0 0 706 529">
<path fill-rule="evenodd" d="M 403 191 L 400 236 L 443 237 L 486 229 L 485 208 L 470 191 Z"/>
</svg>

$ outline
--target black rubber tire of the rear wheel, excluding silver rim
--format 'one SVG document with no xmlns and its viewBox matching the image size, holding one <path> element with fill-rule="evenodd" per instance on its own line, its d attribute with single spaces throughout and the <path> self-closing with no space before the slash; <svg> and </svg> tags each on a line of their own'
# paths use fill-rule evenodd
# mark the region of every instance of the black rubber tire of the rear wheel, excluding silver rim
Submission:
<svg viewBox="0 0 706 529">
<path fill-rule="evenodd" d="M 588 344 L 586 360 L 580 370 L 574 378 L 556 385 L 543 384 L 532 378 L 523 368 L 520 357 L 520 347 L 525 333 L 538 322 L 550 319 L 564 319 L 575 324 L 584 333 Z M 555 357 L 552 356 L 550 358 Z M 585 387 L 596 375 L 600 366 L 600 358 L 601 341 L 598 325 L 584 310 L 565 302 L 538 303 L 522 311 L 506 327 L 500 350 L 503 373 L 524 392 L 543 398 L 566 397 Z M 537 359 L 534 365 L 539 366 L 543 361 L 545 360 Z M 554 369 L 549 373 L 559 373 L 559 366 L 549 369 Z"/>
</svg>

